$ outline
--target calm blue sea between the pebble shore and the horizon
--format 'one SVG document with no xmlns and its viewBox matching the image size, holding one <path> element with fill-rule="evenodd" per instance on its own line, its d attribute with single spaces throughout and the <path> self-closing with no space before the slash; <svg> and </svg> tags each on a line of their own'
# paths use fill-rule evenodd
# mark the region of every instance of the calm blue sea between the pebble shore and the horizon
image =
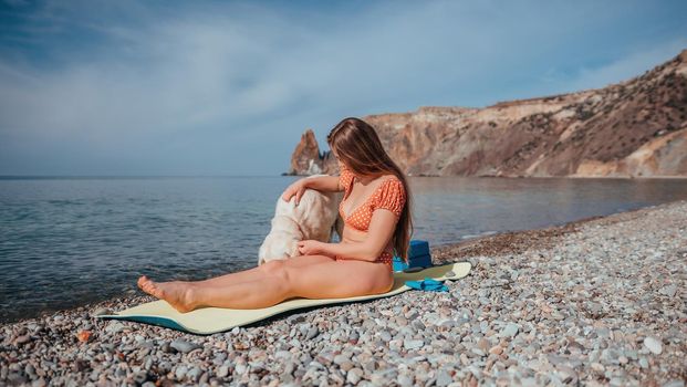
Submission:
<svg viewBox="0 0 687 387">
<path fill-rule="evenodd" d="M 299 177 L 0 177 L 0 323 L 254 268 Z M 687 179 L 410 177 L 430 247 L 687 199 Z M 140 293 L 143 294 L 143 293 Z"/>
</svg>

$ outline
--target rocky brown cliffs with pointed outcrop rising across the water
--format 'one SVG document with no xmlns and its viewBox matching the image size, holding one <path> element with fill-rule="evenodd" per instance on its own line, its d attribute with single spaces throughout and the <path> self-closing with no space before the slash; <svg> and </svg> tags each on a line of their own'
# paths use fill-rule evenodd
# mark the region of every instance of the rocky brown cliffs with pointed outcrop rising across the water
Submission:
<svg viewBox="0 0 687 387">
<path fill-rule="evenodd" d="M 687 177 L 687 50 L 604 88 L 362 118 L 410 176 Z M 336 169 L 308 130 L 290 174 Z"/>
</svg>

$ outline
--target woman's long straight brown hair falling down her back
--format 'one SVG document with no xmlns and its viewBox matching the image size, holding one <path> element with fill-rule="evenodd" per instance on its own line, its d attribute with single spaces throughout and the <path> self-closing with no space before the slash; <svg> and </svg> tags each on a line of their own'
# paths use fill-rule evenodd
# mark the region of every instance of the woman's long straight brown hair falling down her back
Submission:
<svg viewBox="0 0 687 387">
<path fill-rule="evenodd" d="M 365 176 L 392 174 L 403 182 L 403 188 L 406 191 L 406 203 L 394 230 L 393 244 L 395 253 L 407 263 L 413 219 L 410 219 L 410 190 L 405 174 L 384 150 L 379 136 L 372 125 L 360 118 L 347 117 L 342 119 L 326 136 L 326 142 L 330 149 L 353 172 Z"/>
</svg>

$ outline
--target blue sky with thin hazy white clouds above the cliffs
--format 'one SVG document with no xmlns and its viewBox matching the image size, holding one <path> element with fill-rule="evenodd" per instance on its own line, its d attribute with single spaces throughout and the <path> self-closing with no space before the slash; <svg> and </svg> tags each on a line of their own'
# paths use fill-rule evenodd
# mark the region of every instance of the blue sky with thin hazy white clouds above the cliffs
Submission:
<svg viewBox="0 0 687 387">
<path fill-rule="evenodd" d="M 278 176 L 306 128 L 641 75 L 687 1 L 0 0 L 0 175 Z"/>
</svg>

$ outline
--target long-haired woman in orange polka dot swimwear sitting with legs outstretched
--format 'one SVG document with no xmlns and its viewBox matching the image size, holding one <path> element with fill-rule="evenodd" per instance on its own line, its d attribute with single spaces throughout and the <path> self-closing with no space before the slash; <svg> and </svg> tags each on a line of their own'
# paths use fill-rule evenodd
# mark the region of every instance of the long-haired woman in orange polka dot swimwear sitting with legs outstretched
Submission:
<svg viewBox="0 0 687 387">
<path fill-rule="evenodd" d="M 291 297 L 340 299 L 389 291 L 394 251 L 407 262 L 413 229 L 404 174 L 362 119 L 343 119 L 326 139 L 340 176 L 300 179 L 282 198 L 295 197 L 298 205 L 306 188 L 344 191 L 340 243 L 304 240 L 299 242 L 302 255 L 205 281 L 156 283 L 142 275 L 138 287 L 181 313 L 200 306 L 259 308 Z"/>
</svg>

